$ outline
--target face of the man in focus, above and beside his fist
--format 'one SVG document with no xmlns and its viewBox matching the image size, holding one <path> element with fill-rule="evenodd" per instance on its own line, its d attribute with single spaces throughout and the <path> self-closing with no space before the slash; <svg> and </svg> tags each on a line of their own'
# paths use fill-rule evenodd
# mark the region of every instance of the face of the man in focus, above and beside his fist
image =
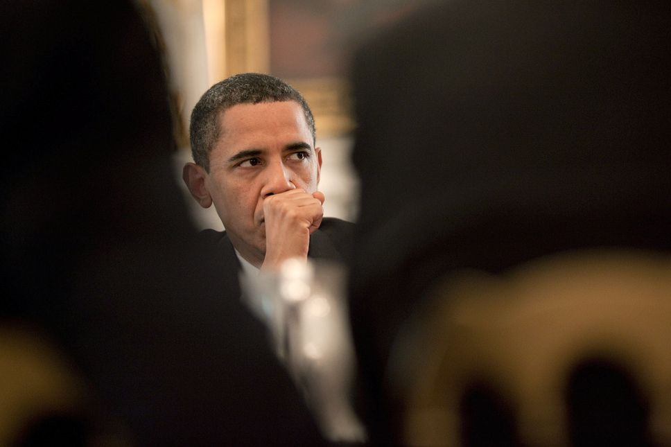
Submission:
<svg viewBox="0 0 671 447">
<path fill-rule="evenodd" d="M 218 124 L 204 185 L 234 247 L 262 262 L 263 200 L 295 188 L 317 191 L 322 152 L 295 101 L 234 105 Z"/>
</svg>

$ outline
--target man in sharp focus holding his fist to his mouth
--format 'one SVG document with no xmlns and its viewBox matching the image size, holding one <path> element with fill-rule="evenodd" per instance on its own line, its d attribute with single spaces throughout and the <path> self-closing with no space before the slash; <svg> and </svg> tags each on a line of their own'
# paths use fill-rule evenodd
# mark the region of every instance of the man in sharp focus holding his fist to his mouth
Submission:
<svg viewBox="0 0 671 447">
<path fill-rule="evenodd" d="M 200 206 L 214 204 L 225 227 L 202 231 L 202 245 L 213 253 L 220 272 L 216 285 L 226 299 L 245 303 L 250 315 L 275 334 L 286 326 L 284 304 L 241 290 L 241 274 L 253 287 L 262 281 L 259 273 L 275 274 L 288 259 L 347 263 L 351 252 L 354 225 L 323 217 L 324 194 L 317 191 L 322 150 L 315 146 L 312 112 L 286 82 L 238 74 L 200 98 L 191 114 L 190 137 L 195 162 L 184 166 L 184 182 Z M 275 340 L 280 357 L 278 346 L 284 343 Z M 295 375 L 289 362 L 286 366 Z M 322 430 L 329 432 L 323 423 Z"/>
</svg>

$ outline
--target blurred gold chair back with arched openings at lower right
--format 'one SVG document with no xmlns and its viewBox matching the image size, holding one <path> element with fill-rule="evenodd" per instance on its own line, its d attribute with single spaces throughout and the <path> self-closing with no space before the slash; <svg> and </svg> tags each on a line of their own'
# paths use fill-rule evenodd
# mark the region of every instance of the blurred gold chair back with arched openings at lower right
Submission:
<svg viewBox="0 0 671 447">
<path fill-rule="evenodd" d="M 671 445 L 671 257 L 567 252 L 432 290 L 387 369 L 404 444 Z"/>
</svg>

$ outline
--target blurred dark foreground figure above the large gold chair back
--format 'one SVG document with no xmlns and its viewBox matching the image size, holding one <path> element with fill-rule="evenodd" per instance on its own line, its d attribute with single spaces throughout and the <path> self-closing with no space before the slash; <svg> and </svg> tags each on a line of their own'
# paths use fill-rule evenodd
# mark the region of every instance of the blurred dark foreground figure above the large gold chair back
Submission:
<svg viewBox="0 0 671 447">
<path fill-rule="evenodd" d="M 350 308 L 373 439 L 397 428 L 394 339 L 445 272 L 671 249 L 670 9 L 446 1 L 360 48 Z"/>
</svg>

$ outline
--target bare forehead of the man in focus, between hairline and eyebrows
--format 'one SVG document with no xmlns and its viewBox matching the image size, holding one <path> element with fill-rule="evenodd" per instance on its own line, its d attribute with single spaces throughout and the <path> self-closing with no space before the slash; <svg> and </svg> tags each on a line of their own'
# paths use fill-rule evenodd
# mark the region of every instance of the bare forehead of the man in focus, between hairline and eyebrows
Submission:
<svg viewBox="0 0 671 447">
<path fill-rule="evenodd" d="M 311 143 L 312 134 L 299 103 L 236 104 L 219 112 L 218 141 L 263 140 L 268 138 L 299 138 Z"/>
</svg>

